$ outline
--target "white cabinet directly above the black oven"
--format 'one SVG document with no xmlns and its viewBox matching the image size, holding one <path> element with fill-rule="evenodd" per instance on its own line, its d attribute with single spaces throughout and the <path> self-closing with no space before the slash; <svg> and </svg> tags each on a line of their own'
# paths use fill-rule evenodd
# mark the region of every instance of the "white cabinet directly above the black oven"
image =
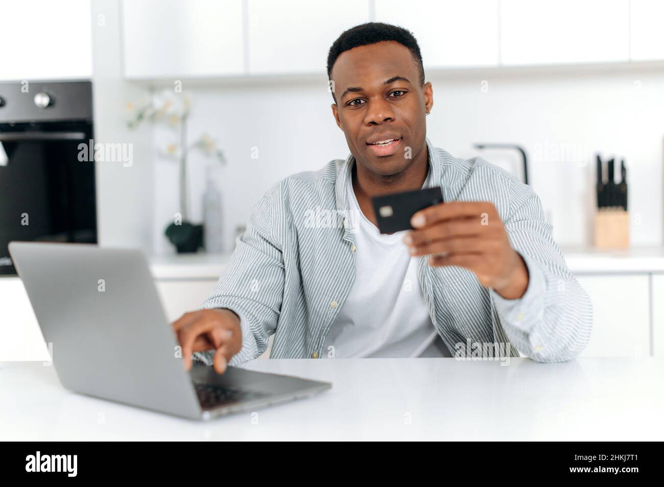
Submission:
<svg viewBox="0 0 664 487">
<path fill-rule="evenodd" d="M 4 1 L 0 11 L 0 80 L 89 79 L 89 0 Z"/>
</svg>

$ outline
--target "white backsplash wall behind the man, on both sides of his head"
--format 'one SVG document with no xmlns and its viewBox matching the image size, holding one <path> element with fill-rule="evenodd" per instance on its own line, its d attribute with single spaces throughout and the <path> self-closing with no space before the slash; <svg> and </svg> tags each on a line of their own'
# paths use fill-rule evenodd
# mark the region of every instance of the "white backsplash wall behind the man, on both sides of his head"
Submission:
<svg viewBox="0 0 664 487">
<path fill-rule="evenodd" d="M 483 80 L 487 84 L 483 84 Z M 459 157 L 482 155 L 519 168 L 519 156 L 479 152 L 476 142 L 519 143 L 530 157 L 531 184 L 561 245 L 592 243 L 594 153 L 625 157 L 634 245 L 662 242 L 664 72 L 643 70 L 478 71 L 432 74 L 434 107 L 427 135 Z M 486 91 L 482 87 L 486 86 Z M 224 197 L 224 242 L 277 180 L 343 159 L 348 147 L 331 113 L 325 79 L 199 87 L 189 133 L 207 132 L 229 159 L 216 176 Z M 252 159 L 252 147 L 260 158 Z M 561 151 L 556 156 L 555 151 Z M 191 157 L 191 216 L 200 220 L 207 160 Z M 169 167 L 170 165 L 170 167 Z M 619 167 L 619 166 L 618 166 Z M 155 167 L 155 251 L 169 251 L 163 228 L 177 211 L 177 172 Z M 619 180 L 619 171 L 616 171 Z"/>
</svg>

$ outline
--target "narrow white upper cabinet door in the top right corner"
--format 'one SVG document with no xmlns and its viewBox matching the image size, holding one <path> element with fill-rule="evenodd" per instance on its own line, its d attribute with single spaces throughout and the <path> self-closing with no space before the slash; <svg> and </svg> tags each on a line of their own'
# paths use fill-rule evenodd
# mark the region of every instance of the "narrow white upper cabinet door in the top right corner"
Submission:
<svg viewBox="0 0 664 487">
<path fill-rule="evenodd" d="M 664 60 L 664 2 L 631 0 L 629 9 L 631 60 Z"/>
</svg>

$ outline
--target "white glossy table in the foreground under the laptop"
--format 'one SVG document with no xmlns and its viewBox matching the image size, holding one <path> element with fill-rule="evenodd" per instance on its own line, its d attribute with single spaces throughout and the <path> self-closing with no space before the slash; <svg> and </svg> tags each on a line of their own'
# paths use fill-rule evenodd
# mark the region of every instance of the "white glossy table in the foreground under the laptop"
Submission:
<svg viewBox="0 0 664 487">
<path fill-rule="evenodd" d="M 179 419 L 66 391 L 52 366 L 0 364 L 0 440 L 663 440 L 664 360 L 253 360 L 325 380 L 309 399 Z M 258 421 L 256 421 L 258 420 Z"/>
</svg>

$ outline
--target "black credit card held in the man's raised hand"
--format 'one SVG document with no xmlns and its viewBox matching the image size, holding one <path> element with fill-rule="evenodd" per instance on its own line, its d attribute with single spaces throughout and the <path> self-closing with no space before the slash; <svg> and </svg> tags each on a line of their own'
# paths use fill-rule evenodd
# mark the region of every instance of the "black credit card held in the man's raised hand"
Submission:
<svg viewBox="0 0 664 487">
<path fill-rule="evenodd" d="M 412 230 L 410 218 L 414 214 L 442 201 L 443 191 L 440 186 L 371 198 L 381 234 Z"/>
</svg>

